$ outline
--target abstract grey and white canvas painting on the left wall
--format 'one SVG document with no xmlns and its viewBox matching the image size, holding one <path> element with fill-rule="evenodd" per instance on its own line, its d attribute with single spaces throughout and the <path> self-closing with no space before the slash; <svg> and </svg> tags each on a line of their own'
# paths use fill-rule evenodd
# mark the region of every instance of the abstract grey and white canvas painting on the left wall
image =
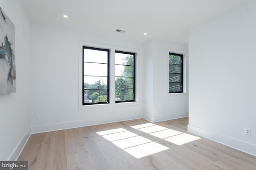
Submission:
<svg viewBox="0 0 256 170">
<path fill-rule="evenodd" d="M 0 8 L 0 94 L 16 92 L 14 24 Z"/>
</svg>

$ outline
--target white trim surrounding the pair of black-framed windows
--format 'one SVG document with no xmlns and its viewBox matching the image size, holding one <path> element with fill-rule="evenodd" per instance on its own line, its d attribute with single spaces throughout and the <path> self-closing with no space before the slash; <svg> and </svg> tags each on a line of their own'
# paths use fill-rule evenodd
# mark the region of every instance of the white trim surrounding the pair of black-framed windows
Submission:
<svg viewBox="0 0 256 170">
<path fill-rule="evenodd" d="M 83 41 L 79 40 L 78 41 L 79 47 L 78 47 L 78 90 L 77 91 L 77 96 L 78 96 L 78 109 L 79 110 L 87 110 L 87 109 L 98 109 L 98 108 L 111 108 L 111 107 L 127 107 L 127 106 L 134 106 L 137 107 L 137 105 L 142 104 L 142 68 L 138 68 L 137 66 L 142 64 L 142 49 L 137 47 L 137 45 L 130 45 L 128 47 L 121 47 L 118 45 L 113 45 L 109 43 L 98 43 L 98 42 L 92 42 L 92 41 Z M 83 46 L 86 47 L 95 47 L 95 48 L 102 48 L 102 49 L 109 49 L 110 50 L 110 72 L 109 72 L 109 81 L 110 81 L 110 88 L 109 88 L 109 103 L 108 104 L 92 104 L 92 105 L 83 105 L 83 99 L 82 99 L 82 94 L 83 94 L 83 81 L 82 81 L 82 74 L 83 74 L 83 68 L 82 68 L 82 63 L 83 63 Z M 136 81 L 135 81 L 135 87 L 136 87 L 136 98 L 135 102 L 123 102 L 123 103 L 115 103 L 115 97 L 114 97 L 114 90 L 115 90 L 115 68 L 114 68 L 114 63 L 115 63 L 115 54 L 114 51 L 127 51 L 127 52 L 132 52 L 136 54 Z M 168 51 L 172 51 L 168 49 Z M 168 52 L 169 53 L 169 52 Z M 168 54 L 167 54 L 168 55 Z M 166 58 L 167 59 L 167 58 Z M 167 80 L 167 79 L 166 79 Z M 74 81 L 75 77 L 74 77 Z M 73 83 L 75 83 L 73 82 Z M 167 85 L 168 83 L 166 83 Z M 167 86 L 166 86 L 167 87 Z M 168 87 L 167 87 L 168 88 Z M 75 99 L 74 99 L 75 100 Z M 90 113 L 90 112 L 86 112 Z"/>
</svg>

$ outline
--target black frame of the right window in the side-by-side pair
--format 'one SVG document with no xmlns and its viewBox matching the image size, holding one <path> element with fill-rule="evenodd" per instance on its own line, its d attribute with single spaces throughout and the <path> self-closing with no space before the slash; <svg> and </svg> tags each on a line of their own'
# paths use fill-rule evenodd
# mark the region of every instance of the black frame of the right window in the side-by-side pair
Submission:
<svg viewBox="0 0 256 170">
<path fill-rule="evenodd" d="M 133 78 L 133 88 L 132 88 L 133 89 L 133 100 L 124 100 L 124 101 L 121 101 L 121 100 L 116 101 L 115 100 L 115 103 L 136 102 L 136 86 L 135 86 L 135 83 L 136 83 L 136 53 L 115 50 L 115 57 L 116 57 L 116 53 L 133 55 L 134 59 L 133 59 L 133 77 L 132 77 Z M 116 65 L 126 66 L 126 65 L 123 65 L 123 64 L 116 64 L 115 63 L 115 68 L 116 68 Z M 127 66 L 130 66 L 130 65 L 127 65 Z M 116 77 L 120 77 L 120 76 L 115 75 L 115 80 L 116 80 Z M 126 78 L 131 78 L 131 77 L 126 77 Z M 116 83 L 115 83 L 114 96 L 116 96 Z"/>
</svg>

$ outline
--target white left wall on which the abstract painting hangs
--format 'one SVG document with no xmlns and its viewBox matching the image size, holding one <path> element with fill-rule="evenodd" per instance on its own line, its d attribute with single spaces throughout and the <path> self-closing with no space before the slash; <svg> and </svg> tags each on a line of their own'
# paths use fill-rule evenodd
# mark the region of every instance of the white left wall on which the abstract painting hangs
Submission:
<svg viewBox="0 0 256 170">
<path fill-rule="evenodd" d="M 17 0 L 0 0 L 15 26 L 16 93 L 0 95 L 0 160 L 15 160 L 29 137 L 30 24 Z"/>
</svg>

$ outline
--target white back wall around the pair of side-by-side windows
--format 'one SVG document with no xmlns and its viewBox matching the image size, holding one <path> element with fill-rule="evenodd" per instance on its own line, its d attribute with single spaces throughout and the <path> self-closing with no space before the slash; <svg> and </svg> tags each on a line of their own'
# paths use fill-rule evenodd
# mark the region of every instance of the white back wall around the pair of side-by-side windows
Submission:
<svg viewBox="0 0 256 170">
<path fill-rule="evenodd" d="M 138 51 L 136 103 L 112 102 L 107 106 L 88 106 L 86 109 L 79 107 L 78 82 L 82 77 L 82 74 L 79 75 L 79 57 L 81 57 L 79 50 L 82 51 L 79 42 L 81 41 L 99 47 L 106 45 Z M 31 24 L 31 56 L 32 133 L 142 117 L 143 64 L 140 43 Z M 110 74 L 113 74 L 112 68 Z M 112 85 L 110 84 L 111 89 L 114 87 Z M 36 115 L 40 115 L 40 120 L 35 120 Z"/>
</svg>

